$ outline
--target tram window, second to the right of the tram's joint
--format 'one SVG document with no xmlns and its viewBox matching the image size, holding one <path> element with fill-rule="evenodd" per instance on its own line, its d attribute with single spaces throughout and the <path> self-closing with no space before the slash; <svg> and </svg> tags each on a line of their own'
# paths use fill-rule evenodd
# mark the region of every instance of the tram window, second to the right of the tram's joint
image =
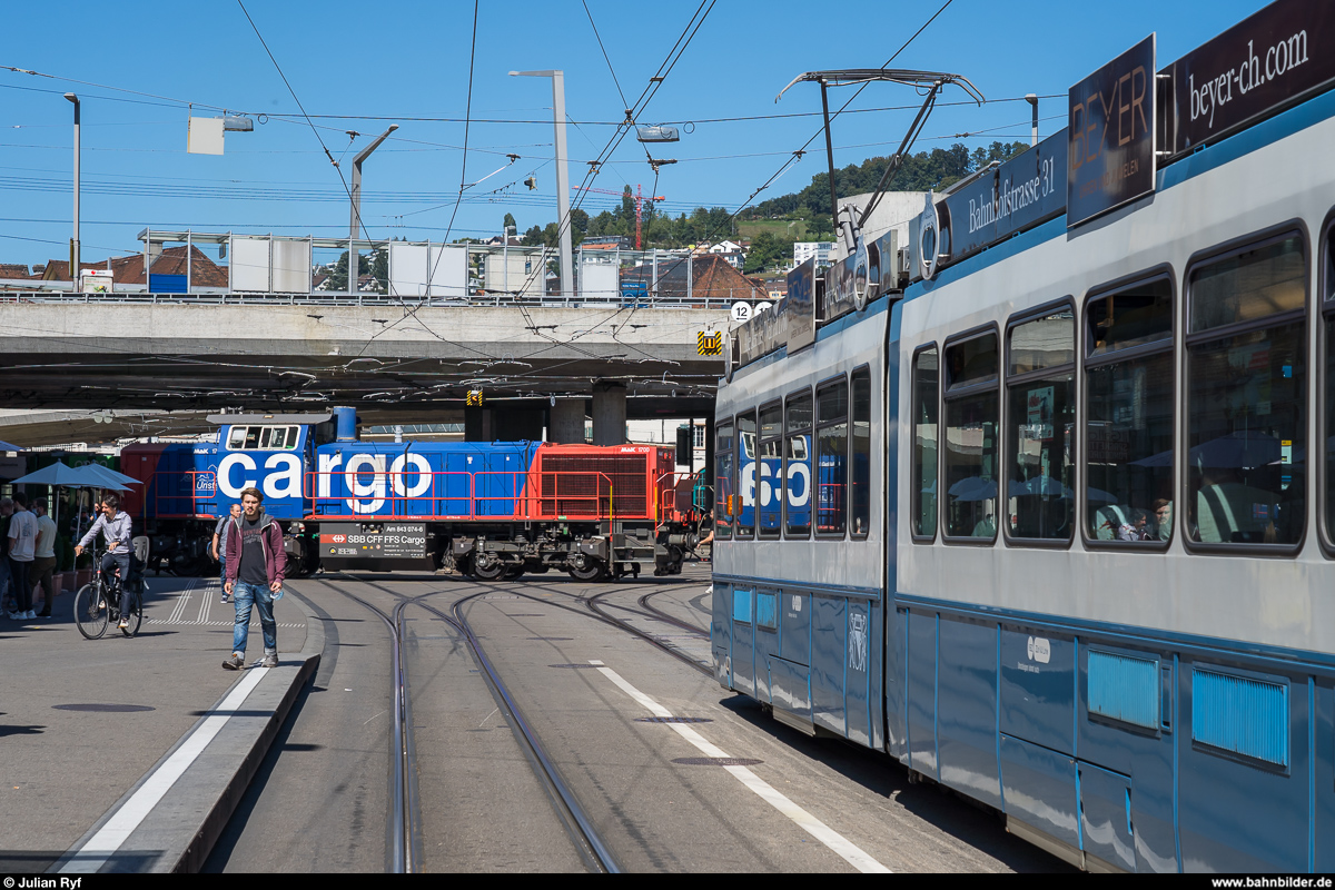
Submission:
<svg viewBox="0 0 1335 890">
<path fill-rule="evenodd" d="M 945 348 L 945 534 L 996 539 L 997 335 Z"/>
</svg>

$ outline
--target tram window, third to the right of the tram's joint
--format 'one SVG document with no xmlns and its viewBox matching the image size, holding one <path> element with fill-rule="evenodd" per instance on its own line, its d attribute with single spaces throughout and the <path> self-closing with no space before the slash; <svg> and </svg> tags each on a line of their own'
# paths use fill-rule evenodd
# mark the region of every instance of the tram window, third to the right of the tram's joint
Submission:
<svg viewBox="0 0 1335 890">
<path fill-rule="evenodd" d="M 1075 518 L 1075 312 L 1069 306 L 1011 328 L 1007 531 L 1069 540 Z"/>
</svg>

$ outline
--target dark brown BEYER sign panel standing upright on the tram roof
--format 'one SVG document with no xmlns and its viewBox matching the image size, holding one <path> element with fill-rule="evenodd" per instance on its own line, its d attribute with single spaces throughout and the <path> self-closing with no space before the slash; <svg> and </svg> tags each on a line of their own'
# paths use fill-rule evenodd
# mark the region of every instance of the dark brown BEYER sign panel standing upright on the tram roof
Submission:
<svg viewBox="0 0 1335 890">
<path fill-rule="evenodd" d="M 1069 92 L 1067 226 L 1155 189 L 1155 35 Z"/>
</svg>

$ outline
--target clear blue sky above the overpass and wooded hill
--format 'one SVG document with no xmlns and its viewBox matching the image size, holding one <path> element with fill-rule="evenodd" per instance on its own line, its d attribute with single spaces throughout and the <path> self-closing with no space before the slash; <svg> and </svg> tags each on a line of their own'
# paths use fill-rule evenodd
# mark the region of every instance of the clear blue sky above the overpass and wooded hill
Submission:
<svg viewBox="0 0 1335 890">
<path fill-rule="evenodd" d="M 718 0 L 649 103 L 641 123 L 697 121 L 674 145 L 653 147 L 665 167 L 657 192 L 678 213 L 698 205 L 736 209 L 818 132 L 818 116 L 717 121 L 724 117 L 818 115 L 820 93 L 800 84 L 774 104 L 793 76 L 820 68 L 880 67 L 944 0 L 885 3 L 738 3 Z M 692 3 L 630 4 L 587 0 L 615 77 L 630 101 L 646 87 L 692 13 Z M 708 5 L 708 3 L 706 3 Z M 916 151 L 963 141 L 1028 139 L 1033 92 L 1041 135 L 1065 125 L 1071 84 L 1145 35 L 1159 35 L 1159 65 L 1262 8 L 1262 0 L 1083 4 L 1051 0 L 953 0 L 893 65 L 951 71 L 989 99 L 981 108 L 948 105 L 949 91 Z M 154 228 L 259 231 L 346 236 L 347 197 L 320 140 L 351 159 L 388 124 L 399 129 L 364 168 L 362 217 L 372 238 L 439 240 L 461 183 L 469 101 L 473 4 L 458 0 L 298 3 L 248 0 L 319 139 L 270 61 L 236 0 L 168 7 L 80 0 L 16 1 L 5 9 L 8 39 L 0 65 L 88 81 L 0 71 L 0 262 L 40 263 L 67 254 L 71 217 L 72 105 L 83 99 L 83 259 L 138 250 L 135 234 Z M 550 81 L 509 77 L 511 69 L 566 73 L 570 175 L 597 157 L 623 117 L 594 32 L 578 0 L 481 4 L 473 73 L 465 192 L 450 238 L 498 234 L 506 212 L 519 231 L 555 219 Z M 100 84 L 100 85 L 89 85 Z M 117 89 L 112 89 L 117 88 Z M 136 96 L 138 91 L 154 96 Z M 852 91 L 832 93 L 842 104 Z M 1012 101 L 1005 101 L 1012 100 Z M 876 84 L 852 109 L 904 108 L 908 88 Z M 187 116 L 226 107 L 268 113 L 252 133 L 228 133 L 222 157 L 186 153 Z M 913 111 L 846 115 L 834 123 L 836 163 L 889 153 Z M 346 117 L 344 117 L 346 116 Z M 371 120 L 367 116 L 383 119 Z M 455 121 L 414 120 L 449 117 Z M 348 139 L 346 131 L 362 136 Z M 977 133 L 957 137 L 957 133 Z M 513 165 L 507 152 L 521 155 Z M 824 140 L 757 200 L 797 191 L 824 169 Z M 538 189 L 522 180 L 537 173 Z M 653 172 L 633 137 L 593 183 L 618 191 Z M 493 191 L 499 189 L 499 191 Z M 591 195 L 597 213 L 617 203 Z"/>
</svg>

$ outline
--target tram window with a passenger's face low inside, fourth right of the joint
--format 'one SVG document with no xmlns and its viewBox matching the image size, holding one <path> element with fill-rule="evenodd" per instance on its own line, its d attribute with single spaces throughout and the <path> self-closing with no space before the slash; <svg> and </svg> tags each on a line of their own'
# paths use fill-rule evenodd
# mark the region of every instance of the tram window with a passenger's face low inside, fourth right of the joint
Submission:
<svg viewBox="0 0 1335 890">
<path fill-rule="evenodd" d="M 1085 304 L 1085 534 L 1167 542 L 1173 527 L 1173 300 L 1165 278 Z"/>
</svg>

